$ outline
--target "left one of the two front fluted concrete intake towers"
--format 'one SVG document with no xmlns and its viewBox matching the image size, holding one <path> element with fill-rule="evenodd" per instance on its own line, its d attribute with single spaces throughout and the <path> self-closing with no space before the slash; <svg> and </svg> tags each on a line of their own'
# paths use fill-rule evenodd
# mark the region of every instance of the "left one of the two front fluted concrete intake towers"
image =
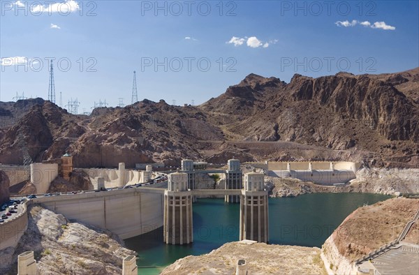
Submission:
<svg viewBox="0 0 419 275">
<path fill-rule="evenodd" d="M 168 176 L 164 192 L 163 240 L 166 244 L 189 244 L 192 232 L 192 193 L 188 191 L 188 174 L 175 172 Z"/>
</svg>

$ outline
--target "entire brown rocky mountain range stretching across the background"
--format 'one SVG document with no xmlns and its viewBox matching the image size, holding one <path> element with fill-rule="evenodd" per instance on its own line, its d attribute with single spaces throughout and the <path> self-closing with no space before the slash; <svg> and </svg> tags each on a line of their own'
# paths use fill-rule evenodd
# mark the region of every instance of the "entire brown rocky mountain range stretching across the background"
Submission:
<svg viewBox="0 0 419 275">
<path fill-rule="evenodd" d="M 0 103 L 0 163 L 68 152 L 76 167 L 125 162 L 179 165 L 182 158 L 241 161 L 372 160 L 419 166 L 419 68 L 381 75 L 250 74 L 200 106 L 142 101 L 69 114 L 41 99 Z M 14 104 L 14 105 L 13 105 Z M 13 107 L 14 106 L 14 107 Z M 22 106 L 22 107 L 18 107 Z"/>
</svg>

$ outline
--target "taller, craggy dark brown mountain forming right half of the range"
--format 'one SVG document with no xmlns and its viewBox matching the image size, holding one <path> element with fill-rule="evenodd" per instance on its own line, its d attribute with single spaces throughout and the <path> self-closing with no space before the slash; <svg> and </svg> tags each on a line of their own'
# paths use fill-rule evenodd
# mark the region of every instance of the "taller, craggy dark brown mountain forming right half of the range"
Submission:
<svg viewBox="0 0 419 275">
<path fill-rule="evenodd" d="M 413 158 L 417 163 L 418 90 L 419 68 L 315 79 L 294 75 L 289 84 L 251 74 L 200 108 L 235 140 L 369 151 L 392 161 Z"/>
</svg>

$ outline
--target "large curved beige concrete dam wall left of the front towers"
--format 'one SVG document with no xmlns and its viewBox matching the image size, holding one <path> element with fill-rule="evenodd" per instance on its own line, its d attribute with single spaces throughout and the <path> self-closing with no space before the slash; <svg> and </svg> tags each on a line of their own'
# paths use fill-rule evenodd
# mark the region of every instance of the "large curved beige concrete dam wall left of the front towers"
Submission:
<svg viewBox="0 0 419 275">
<path fill-rule="evenodd" d="M 142 193 L 137 188 L 36 198 L 33 202 L 70 220 L 108 229 L 122 239 L 163 226 L 163 195 Z"/>
</svg>

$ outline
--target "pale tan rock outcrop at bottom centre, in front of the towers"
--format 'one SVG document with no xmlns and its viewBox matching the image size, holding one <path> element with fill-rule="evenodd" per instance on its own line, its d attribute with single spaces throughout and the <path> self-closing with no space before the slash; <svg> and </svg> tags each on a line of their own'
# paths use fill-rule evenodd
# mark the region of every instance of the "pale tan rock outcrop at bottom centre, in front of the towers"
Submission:
<svg viewBox="0 0 419 275">
<path fill-rule="evenodd" d="M 319 248 L 240 241 L 177 260 L 161 274 L 235 274 L 237 261 L 242 259 L 247 260 L 248 274 L 325 274 Z"/>
</svg>

